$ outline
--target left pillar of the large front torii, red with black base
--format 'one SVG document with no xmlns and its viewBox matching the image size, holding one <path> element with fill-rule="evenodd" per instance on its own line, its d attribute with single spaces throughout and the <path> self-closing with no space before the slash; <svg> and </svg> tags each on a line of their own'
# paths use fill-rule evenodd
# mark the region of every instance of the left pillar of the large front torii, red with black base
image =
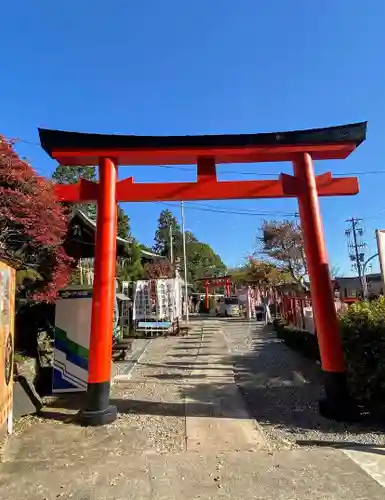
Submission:
<svg viewBox="0 0 385 500">
<path fill-rule="evenodd" d="M 84 425 L 113 422 L 117 409 L 110 406 L 112 329 L 116 263 L 117 166 L 111 158 L 99 162 L 98 216 L 96 223 L 94 286 Z"/>
</svg>

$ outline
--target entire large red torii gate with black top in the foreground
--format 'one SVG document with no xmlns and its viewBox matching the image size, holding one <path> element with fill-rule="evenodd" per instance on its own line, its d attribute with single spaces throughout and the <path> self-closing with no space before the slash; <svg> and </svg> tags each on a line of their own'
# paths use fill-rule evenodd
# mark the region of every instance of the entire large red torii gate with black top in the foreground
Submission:
<svg viewBox="0 0 385 500">
<path fill-rule="evenodd" d="M 97 202 L 95 277 L 89 348 L 89 375 L 83 425 L 103 425 L 117 416 L 110 405 L 113 302 L 118 201 L 187 201 L 235 198 L 297 198 L 311 295 L 325 375 L 321 413 L 350 418 L 353 404 L 332 297 L 319 196 L 358 193 L 355 177 L 316 176 L 313 160 L 347 158 L 366 138 L 366 122 L 338 127 L 266 134 L 145 137 L 39 129 L 43 149 L 61 165 L 99 165 L 99 182 L 55 186 L 67 202 Z M 218 181 L 216 165 L 290 161 L 294 175 L 274 180 Z M 196 182 L 135 183 L 118 180 L 120 165 L 197 165 Z M 257 172 L 256 172 L 257 173 Z"/>
</svg>

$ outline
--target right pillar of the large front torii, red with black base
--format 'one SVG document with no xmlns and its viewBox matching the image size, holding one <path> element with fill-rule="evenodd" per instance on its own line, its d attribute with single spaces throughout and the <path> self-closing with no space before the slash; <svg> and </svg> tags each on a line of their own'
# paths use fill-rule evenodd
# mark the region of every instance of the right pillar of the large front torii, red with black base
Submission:
<svg viewBox="0 0 385 500">
<path fill-rule="evenodd" d="M 346 383 L 312 158 L 307 153 L 299 154 L 293 166 L 299 190 L 299 215 L 325 380 L 326 399 L 320 401 L 320 411 L 328 418 L 346 419 L 353 411 L 353 405 Z"/>
</svg>

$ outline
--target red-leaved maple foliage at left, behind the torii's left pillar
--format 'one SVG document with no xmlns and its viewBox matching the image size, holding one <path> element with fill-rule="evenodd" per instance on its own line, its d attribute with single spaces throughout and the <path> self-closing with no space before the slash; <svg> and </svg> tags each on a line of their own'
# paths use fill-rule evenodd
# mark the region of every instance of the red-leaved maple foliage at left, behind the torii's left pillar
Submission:
<svg viewBox="0 0 385 500">
<path fill-rule="evenodd" d="M 53 301 L 68 282 L 72 259 L 62 246 L 66 233 L 67 217 L 52 183 L 0 136 L 0 258 L 35 271 L 35 300 Z"/>
</svg>

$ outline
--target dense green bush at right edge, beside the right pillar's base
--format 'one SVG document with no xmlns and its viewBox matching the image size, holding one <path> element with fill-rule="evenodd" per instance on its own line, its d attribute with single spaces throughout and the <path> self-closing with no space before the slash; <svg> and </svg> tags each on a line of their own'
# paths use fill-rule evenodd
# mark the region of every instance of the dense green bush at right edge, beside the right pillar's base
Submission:
<svg viewBox="0 0 385 500">
<path fill-rule="evenodd" d="M 352 395 L 372 412 L 385 410 L 385 297 L 357 302 L 341 315 Z"/>
</svg>

